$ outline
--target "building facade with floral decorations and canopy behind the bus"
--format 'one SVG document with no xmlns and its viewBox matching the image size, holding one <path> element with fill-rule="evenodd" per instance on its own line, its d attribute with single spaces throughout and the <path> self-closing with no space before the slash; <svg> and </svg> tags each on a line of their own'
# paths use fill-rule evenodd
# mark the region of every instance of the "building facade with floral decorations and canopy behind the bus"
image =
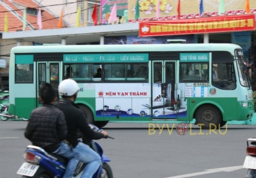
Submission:
<svg viewBox="0 0 256 178">
<path fill-rule="evenodd" d="M 18 0 L 14 0 L 13 2 L 18 4 L 22 3 Z M 138 19 L 135 19 L 137 2 L 139 16 Z M 254 14 L 256 12 L 256 1 L 249 1 L 249 11 L 246 12 L 246 1 L 223 0 L 224 11 L 221 13 L 219 12 L 219 0 L 204 0 L 202 1 L 203 8 L 200 8 L 202 7 L 200 2 L 200 0 L 34 0 L 33 3 L 36 3 L 44 12 L 50 13 L 57 19 L 57 21 L 59 21 L 60 14 L 63 11 L 63 24 L 65 25 L 62 26 L 62 29 L 57 27 L 57 22 L 51 22 L 50 24 L 52 25 L 55 23 L 55 26 L 53 27 L 54 29 L 52 27 L 43 28 L 43 30 L 37 29 L 37 31 L 31 32 L 31 30 L 36 29 L 26 28 L 25 31 L 3 33 L 2 40 L 13 40 L 13 42 L 17 42 L 19 45 L 42 43 L 62 43 L 63 45 L 104 45 L 118 43 L 126 45 L 139 43 L 166 43 L 167 39 L 186 39 L 187 43 L 204 43 L 205 34 L 200 33 L 139 37 L 138 23 L 142 21 L 172 21 L 177 19 L 200 19 L 217 16 L 225 17 L 248 13 Z M 94 26 L 92 23 L 91 16 L 95 4 L 98 4 L 97 26 Z M 114 22 L 109 22 L 114 7 L 117 9 L 117 18 L 115 18 Z M 179 13 L 178 7 L 180 9 Z M 78 8 L 81 9 L 81 13 L 79 14 L 77 23 Z M 21 23 L 22 13 L 19 16 L 19 23 Z M 256 58 L 255 30 L 209 33 L 207 38 L 207 42 L 209 43 L 236 43 L 242 46 L 246 57 L 249 59 L 248 67 L 251 71 L 251 76 L 254 78 L 254 63 Z M 4 53 L 5 52 L 1 51 L 1 54 Z"/>
</svg>

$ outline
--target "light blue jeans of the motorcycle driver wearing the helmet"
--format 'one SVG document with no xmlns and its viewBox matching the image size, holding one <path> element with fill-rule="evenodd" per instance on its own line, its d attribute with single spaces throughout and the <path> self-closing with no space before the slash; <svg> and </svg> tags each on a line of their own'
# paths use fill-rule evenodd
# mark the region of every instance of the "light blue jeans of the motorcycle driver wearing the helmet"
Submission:
<svg viewBox="0 0 256 178">
<path fill-rule="evenodd" d="M 73 150 L 80 154 L 80 162 L 86 163 L 85 170 L 83 170 L 80 178 L 91 178 L 101 165 L 100 155 L 82 142 L 79 142 Z"/>
</svg>

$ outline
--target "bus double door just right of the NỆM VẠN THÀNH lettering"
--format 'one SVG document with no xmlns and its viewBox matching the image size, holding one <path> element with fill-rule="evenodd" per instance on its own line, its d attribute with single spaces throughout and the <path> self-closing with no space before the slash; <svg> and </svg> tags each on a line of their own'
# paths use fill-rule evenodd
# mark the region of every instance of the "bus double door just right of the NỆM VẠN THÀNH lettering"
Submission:
<svg viewBox="0 0 256 178">
<path fill-rule="evenodd" d="M 152 68 L 153 119 L 177 119 L 176 62 L 155 61 Z"/>
</svg>

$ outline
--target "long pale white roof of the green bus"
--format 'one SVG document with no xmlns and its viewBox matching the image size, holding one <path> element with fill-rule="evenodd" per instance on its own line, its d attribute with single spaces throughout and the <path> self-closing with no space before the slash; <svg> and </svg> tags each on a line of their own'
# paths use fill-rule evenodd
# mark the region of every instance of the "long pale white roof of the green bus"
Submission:
<svg viewBox="0 0 256 178">
<path fill-rule="evenodd" d="M 196 44 L 141 44 L 141 45 L 47 45 L 47 46 L 16 46 L 11 53 L 42 53 L 42 52 L 153 52 L 153 51 L 230 51 L 242 49 L 231 43 L 196 43 Z"/>
</svg>

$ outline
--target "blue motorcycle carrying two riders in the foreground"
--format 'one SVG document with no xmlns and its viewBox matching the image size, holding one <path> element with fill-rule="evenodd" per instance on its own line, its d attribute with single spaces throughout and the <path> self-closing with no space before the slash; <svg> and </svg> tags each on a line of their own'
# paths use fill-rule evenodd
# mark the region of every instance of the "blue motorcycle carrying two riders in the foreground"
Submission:
<svg viewBox="0 0 256 178">
<path fill-rule="evenodd" d="M 93 130 L 101 132 L 101 129 L 98 129 L 98 127 L 92 124 L 89 125 Z M 107 136 L 107 138 L 114 139 L 110 136 Z M 79 139 L 82 141 L 81 138 Z M 86 143 L 101 156 L 102 166 L 98 168 L 93 178 L 113 178 L 112 169 L 107 164 L 107 162 L 110 162 L 110 159 L 103 155 L 101 146 L 92 140 L 86 141 Z M 65 167 L 68 164 L 68 159 L 65 157 L 47 153 L 43 148 L 34 145 L 27 146 L 24 159 L 26 162 L 17 171 L 17 174 L 22 175 L 22 178 L 60 178 L 65 173 Z M 80 177 L 85 166 L 85 163 L 79 162 L 72 178 Z"/>
</svg>

